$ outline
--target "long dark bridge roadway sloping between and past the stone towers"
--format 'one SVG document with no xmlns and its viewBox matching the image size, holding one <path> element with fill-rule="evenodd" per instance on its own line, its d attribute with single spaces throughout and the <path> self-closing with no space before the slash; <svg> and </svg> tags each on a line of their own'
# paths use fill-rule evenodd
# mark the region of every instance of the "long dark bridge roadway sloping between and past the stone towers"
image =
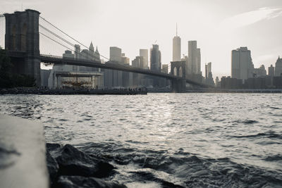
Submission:
<svg viewBox="0 0 282 188">
<path fill-rule="evenodd" d="M 79 65 L 85 67 L 93 67 L 93 68 L 104 68 L 111 70 L 122 70 L 131 73 L 140 73 L 143 75 L 152 75 L 157 77 L 164 77 L 168 80 L 183 80 L 183 77 L 178 77 L 171 74 L 161 73 L 159 71 L 147 70 L 143 68 L 136 68 L 131 65 L 121 65 L 119 63 L 115 63 L 113 61 L 108 61 L 106 63 L 101 63 L 100 61 L 89 61 L 89 60 L 75 60 L 73 58 L 62 58 L 60 56 L 50 56 L 40 54 L 40 59 L 42 63 L 54 64 L 54 65 Z M 189 79 L 185 79 L 188 84 L 197 85 L 200 87 L 208 87 L 206 84 L 194 82 Z"/>
</svg>

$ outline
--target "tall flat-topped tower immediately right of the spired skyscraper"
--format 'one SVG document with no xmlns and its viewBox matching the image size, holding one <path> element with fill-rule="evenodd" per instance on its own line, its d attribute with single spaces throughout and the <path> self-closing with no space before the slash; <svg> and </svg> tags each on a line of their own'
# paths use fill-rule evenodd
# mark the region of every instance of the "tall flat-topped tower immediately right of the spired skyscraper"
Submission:
<svg viewBox="0 0 282 188">
<path fill-rule="evenodd" d="M 188 74 L 197 74 L 197 41 L 188 41 Z"/>
</svg>

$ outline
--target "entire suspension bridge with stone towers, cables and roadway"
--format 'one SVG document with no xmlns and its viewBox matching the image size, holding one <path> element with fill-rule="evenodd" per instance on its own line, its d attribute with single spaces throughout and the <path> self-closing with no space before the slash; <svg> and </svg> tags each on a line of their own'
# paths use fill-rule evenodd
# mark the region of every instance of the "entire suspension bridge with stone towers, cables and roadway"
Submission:
<svg viewBox="0 0 282 188">
<path fill-rule="evenodd" d="M 37 86 L 40 85 L 40 65 L 41 63 L 44 63 L 49 65 L 78 65 L 92 68 L 121 70 L 130 73 L 162 77 L 171 80 L 171 89 L 173 92 L 185 91 L 186 83 L 196 87 L 209 87 L 206 84 L 186 78 L 185 74 L 179 74 L 179 68 L 185 71 L 185 65 L 181 65 L 180 63 L 171 64 L 171 73 L 168 74 L 156 70 L 136 68 L 132 65 L 123 65 L 111 61 L 109 58 L 106 58 L 101 54 L 100 56 L 106 58 L 106 61 L 102 62 L 98 58 L 89 60 L 63 58 L 62 56 L 58 56 L 58 51 L 56 51 L 56 49 L 59 47 L 75 52 L 75 44 L 71 41 L 75 41 L 82 46 L 85 45 L 59 29 L 59 27 L 56 27 L 47 19 L 42 18 L 40 13 L 35 10 L 26 9 L 25 11 L 16 11 L 15 13 L 4 13 L 4 15 L 0 15 L 0 20 L 1 19 L 5 19 L 4 44 L 7 54 L 11 57 L 11 61 L 14 64 L 14 69 L 17 73 L 34 77 Z M 50 30 L 49 27 L 52 27 L 56 32 Z M 51 47 L 49 48 L 51 49 L 51 52 L 49 52 L 49 54 L 42 54 L 42 48 L 46 49 L 50 44 Z"/>
</svg>

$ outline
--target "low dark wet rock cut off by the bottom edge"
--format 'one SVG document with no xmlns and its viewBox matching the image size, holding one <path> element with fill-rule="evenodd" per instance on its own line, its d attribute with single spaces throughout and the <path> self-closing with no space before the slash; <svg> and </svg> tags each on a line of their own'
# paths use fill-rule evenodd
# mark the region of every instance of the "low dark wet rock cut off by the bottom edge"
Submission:
<svg viewBox="0 0 282 188">
<path fill-rule="evenodd" d="M 125 188 L 124 184 L 109 182 L 94 177 L 60 176 L 56 184 L 58 188 Z"/>
</svg>

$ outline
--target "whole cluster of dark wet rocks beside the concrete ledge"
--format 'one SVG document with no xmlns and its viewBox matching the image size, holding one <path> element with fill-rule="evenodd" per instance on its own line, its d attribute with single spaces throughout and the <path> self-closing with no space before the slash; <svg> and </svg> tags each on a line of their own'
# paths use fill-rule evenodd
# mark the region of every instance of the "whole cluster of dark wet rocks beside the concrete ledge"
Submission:
<svg viewBox="0 0 282 188">
<path fill-rule="evenodd" d="M 116 168 L 106 160 L 87 155 L 70 144 L 46 146 L 51 188 L 126 187 L 104 180 L 116 173 Z"/>
</svg>

